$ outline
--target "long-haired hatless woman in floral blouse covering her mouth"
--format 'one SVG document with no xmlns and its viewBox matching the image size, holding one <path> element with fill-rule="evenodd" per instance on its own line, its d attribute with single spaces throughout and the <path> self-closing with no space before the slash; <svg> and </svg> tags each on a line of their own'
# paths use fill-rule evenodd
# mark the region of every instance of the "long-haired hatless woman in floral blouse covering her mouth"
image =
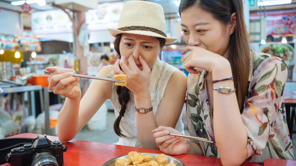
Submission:
<svg viewBox="0 0 296 166">
<path fill-rule="evenodd" d="M 154 130 L 160 150 L 218 157 L 223 165 L 294 160 L 283 96 L 287 65 L 250 50 L 242 0 L 181 0 L 179 13 L 188 45 L 188 132 L 214 143 L 174 137 L 168 133 L 178 131 L 161 126 Z"/>
</svg>

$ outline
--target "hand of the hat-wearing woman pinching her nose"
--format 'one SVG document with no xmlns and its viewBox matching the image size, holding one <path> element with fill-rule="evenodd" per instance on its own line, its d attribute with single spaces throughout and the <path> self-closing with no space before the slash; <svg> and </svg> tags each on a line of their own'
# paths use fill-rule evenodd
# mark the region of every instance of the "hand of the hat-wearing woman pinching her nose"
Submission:
<svg viewBox="0 0 296 166">
<path fill-rule="evenodd" d="M 116 74 L 126 74 L 128 81 L 126 87 L 130 89 L 134 95 L 142 94 L 143 89 L 149 89 L 150 69 L 146 61 L 139 56 L 139 60 L 143 66 L 140 71 L 137 67 L 133 55 L 127 57 L 122 56 L 114 64 L 113 76 Z M 119 65 L 122 70 L 120 70 Z"/>
</svg>

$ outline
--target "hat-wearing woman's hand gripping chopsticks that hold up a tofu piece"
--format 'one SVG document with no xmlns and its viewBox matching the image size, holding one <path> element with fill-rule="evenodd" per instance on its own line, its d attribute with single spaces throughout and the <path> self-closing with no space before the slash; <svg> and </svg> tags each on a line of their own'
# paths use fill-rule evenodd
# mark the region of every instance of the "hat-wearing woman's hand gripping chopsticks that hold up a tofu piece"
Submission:
<svg viewBox="0 0 296 166">
<path fill-rule="evenodd" d="M 82 78 L 73 77 L 74 70 L 59 68 L 57 66 L 47 67 L 46 70 L 52 73 L 47 80 L 49 82 L 48 89 L 53 91 L 54 94 L 63 95 L 70 99 L 81 96 L 81 89 L 78 82 Z"/>
</svg>

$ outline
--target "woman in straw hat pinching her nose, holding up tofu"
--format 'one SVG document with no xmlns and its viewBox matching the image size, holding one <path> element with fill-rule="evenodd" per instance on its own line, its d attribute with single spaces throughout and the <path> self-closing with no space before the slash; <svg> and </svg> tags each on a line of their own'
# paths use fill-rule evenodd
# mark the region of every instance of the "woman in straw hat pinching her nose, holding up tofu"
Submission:
<svg viewBox="0 0 296 166">
<path fill-rule="evenodd" d="M 176 39 L 165 34 L 163 8 L 147 1 L 128 1 L 123 6 L 118 29 L 108 29 L 115 37 L 119 54 L 115 65 L 102 68 L 98 77 L 126 74 L 126 87 L 93 80 L 81 98 L 78 82 L 71 69 L 46 68 L 49 89 L 64 95 L 64 106 L 58 118 L 58 136 L 67 142 L 86 125 L 107 99 L 112 100 L 115 115 L 116 144 L 158 149 L 151 132 L 158 126 L 169 126 L 184 134 L 181 110 L 186 95 L 186 75 L 157 57 L 165 43 Z M 139 112 L 144 109 L 144 113 Z"/>
</svg>

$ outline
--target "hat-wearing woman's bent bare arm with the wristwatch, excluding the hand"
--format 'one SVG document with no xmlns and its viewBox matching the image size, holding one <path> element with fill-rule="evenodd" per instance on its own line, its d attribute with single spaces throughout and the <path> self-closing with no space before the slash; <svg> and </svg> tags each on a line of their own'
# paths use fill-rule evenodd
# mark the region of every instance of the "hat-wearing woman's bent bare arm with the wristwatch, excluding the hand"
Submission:
<svg viewBox="0 0 296 166">
<path fill-rule="evenodd" d="M 158 126 L 175 128 L 184 106 L 187 77 L 182 71 L 175 71 L 165 88 L 163 100 L 160 102 L 156 117 L 153 112 L 136 113 L 137 131 L 141 146 L 149 149 L 159 149 L 155 143 L 153 133 L 149 132 Z M 147 96 L 143 96 L 147 95 Z M 150 91 L 135 94 L 136 107 L 151 107 Z"/>
</svg>

